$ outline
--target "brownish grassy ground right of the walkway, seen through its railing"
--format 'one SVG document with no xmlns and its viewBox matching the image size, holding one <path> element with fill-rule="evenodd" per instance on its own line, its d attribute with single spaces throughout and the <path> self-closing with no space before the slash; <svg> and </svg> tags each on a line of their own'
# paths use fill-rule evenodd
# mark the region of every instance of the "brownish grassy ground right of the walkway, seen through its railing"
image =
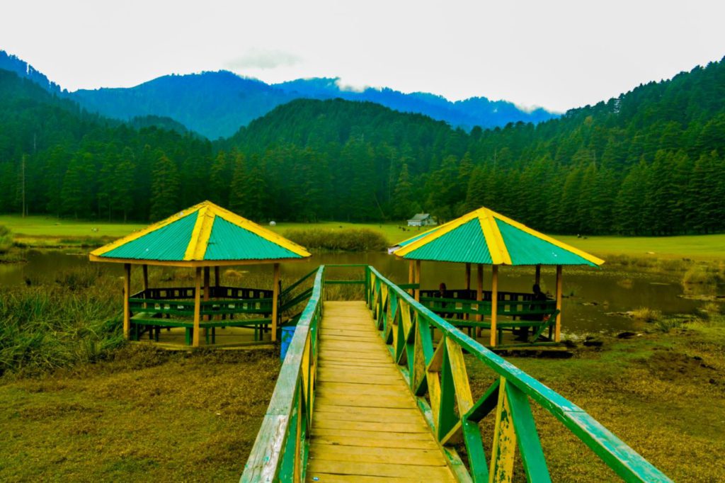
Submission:
<svg viewBox="0 0 725 483">
<path fill-rule="evenodd" d="M 630 339 L 598 336 L 601 347 L 580 345 L 568 360 L 507 359 L 586 410 L 674 481 L 724 481 L 725 318 L 713 313 L 704 321 L 649 327 Z M 491 371 L 468 363 L 474 396 L 482 394 L 493 381 Z M 618 481 L 550 413 L 532 407 L 553 481 Z M 492 419 L 484 419 L 483 434 L 493 434 Z M 491 440 L 484 437 L 486 454 Z"/>
</svg>

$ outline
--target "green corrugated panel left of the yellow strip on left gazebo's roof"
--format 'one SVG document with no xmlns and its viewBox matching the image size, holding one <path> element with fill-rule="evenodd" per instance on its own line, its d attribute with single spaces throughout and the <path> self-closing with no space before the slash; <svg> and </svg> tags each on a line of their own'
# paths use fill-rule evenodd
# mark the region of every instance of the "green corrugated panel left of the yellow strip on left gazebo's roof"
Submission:
<svg viewBox="0 0 725 483">
<path fill-rule="evenodd" d="M 191 212 L 173 223 L 128 241 L 100 256 L 132 260 L 183 260 L 191 233 L 194 231 L 197 215 L 199 215 L 198 211 Z"/>
</svg>

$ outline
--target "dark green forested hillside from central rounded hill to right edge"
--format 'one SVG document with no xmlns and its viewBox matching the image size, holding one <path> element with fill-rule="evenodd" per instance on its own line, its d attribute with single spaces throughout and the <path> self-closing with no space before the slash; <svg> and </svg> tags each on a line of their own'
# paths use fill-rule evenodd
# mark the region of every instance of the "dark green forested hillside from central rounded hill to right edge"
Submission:
<svg viewBox="0 0 725 483">
<path fill-rule="evenodd" d="M 294 102 L 230 141 L 257 153 L 251 165 L 267 183 L 279 170 L 270 166 L 287 162 L 282 172 L 291 172 L 297 164 L 279 152 L 306 149 L 328 166 L 308 181 L 334 199 L 315 210 L 324 217 L 401 219 L 425 210 L 446 220 L 485 205 L 555 233 L 725 229 L 723 62 L 538 125 L 467 135 L 374 104 Z"/>
</svg>

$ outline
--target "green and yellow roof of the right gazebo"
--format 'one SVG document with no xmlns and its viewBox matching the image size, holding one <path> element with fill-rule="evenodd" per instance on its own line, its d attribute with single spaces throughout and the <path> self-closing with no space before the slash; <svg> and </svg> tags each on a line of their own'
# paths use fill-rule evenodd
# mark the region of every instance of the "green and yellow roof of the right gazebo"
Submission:
<svg viewBox="0 0 725 483">
<path fill-rule="evenodd" d="M 604 260 L 481 207 L 401 241 L 390 249 L 405 260 L 486 265 L 590 265 Z"/>
</svg>

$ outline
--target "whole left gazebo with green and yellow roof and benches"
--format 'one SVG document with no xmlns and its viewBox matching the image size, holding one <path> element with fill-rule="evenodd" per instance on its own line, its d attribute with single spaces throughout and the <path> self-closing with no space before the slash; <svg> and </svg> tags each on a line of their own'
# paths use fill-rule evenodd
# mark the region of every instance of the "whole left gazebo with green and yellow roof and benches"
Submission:
<svg viewBox="0 0 725 483">
<path fill-rule="evenodd" d="M 185 329 L 186 344 L 199 347 L 217 327 L 252 327 L 254 338 L 271 326 L 277 339 L 280 263 L 305 260 L 303 247 L 212 202 L 182 210 L 91 252 L 92 262 L 123 263 L 123 334 L 138 339 L 162 327 Z M 220 267 L 273 264 L 271 289 L 222 286 Z M 143 289 L 131 292 L 131 266 L 143 268 Z M 149 287 L 149 265 L 194 269 L 193 287 Z M 210 268 L 215 284 L 210 285 Z M 250 318 L 252 317 L 252 318 Z"/>
</svg>

